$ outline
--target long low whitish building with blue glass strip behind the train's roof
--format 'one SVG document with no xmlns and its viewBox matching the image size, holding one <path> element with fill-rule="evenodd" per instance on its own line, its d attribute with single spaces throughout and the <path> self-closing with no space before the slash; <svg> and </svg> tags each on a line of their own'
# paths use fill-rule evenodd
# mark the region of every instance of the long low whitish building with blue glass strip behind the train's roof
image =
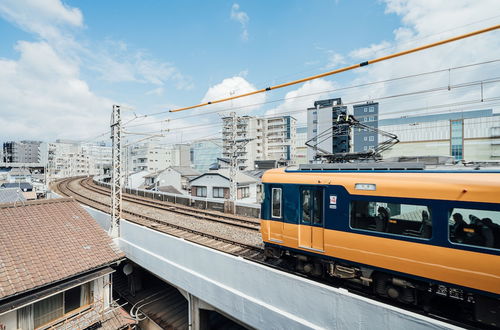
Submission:
<svg viewBox="0 0 500 330">
<path fill-rule="evenodd" d="M 500 114 L 492 109 L 379 120 L 400 142 L 384 158 L 453 156 L 456 161 L 500 160 Z"/>
</svg>

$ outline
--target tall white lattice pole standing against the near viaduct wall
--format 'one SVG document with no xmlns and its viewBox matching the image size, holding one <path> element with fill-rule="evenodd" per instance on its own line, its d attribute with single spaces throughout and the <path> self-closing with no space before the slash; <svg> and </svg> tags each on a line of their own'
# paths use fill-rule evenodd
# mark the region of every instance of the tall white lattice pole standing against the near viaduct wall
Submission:
<svg viewBox="0 0 500 330">
<path fill-rule="evenodd" d="M 112 238 L 120 236 L 120 217 L 122 213 L 122 187 L 121 187 L 121 117 L 120 106 L 113 105 L 111 114 L 111 225 L 109 234 Z"/>
</svg>

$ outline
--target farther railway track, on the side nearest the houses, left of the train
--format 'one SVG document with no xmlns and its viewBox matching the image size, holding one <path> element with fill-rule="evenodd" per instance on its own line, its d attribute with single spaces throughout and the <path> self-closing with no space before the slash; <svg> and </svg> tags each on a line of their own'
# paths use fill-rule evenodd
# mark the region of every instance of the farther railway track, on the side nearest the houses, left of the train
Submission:
<svg viewBox="0 0 500 330">
<path fill-rule="evenodd" d="M 94 191 L 96 193 L 109 196 L 110 191 L 104 187 L 97 186 L 93 184 L 92 178 L 82 179 L 81 185 L 88 190 Z M 219 222 L 231 226 L 246 228 L 254 231 L 260 230 L 260 221 L 258 219 L 252 219 L 241 216 L 233 216 L 228 215 L 216 211 L 208 211 L 208 210 L 200 210 L 193 209 L 192 207 L 183 206 L 179 204 L 174 204 L 165 201 L 155 201 L 150 198 L 131 195 L 131 194 L 123 194 L 123 200 L 130 201 L 133 203 L 137 203 L 140 205 L 150 206 L 157 209 L 162 209 L 170 212 L 175 212 L 191 217 L 195 217 L 198 219 L 208 220 L 212 222 Z"/>
</svg>

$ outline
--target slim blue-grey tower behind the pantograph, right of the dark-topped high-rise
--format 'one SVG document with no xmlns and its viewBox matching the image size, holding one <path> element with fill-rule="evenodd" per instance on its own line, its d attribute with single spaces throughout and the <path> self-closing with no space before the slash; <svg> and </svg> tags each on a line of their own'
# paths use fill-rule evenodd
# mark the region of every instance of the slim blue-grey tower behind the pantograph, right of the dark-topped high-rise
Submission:
<svg viewBox="0 0 500 330">
<path fill-rule="evenodd" d="M 378 128 L 378 103 L 367 102 L 353 106 L 354 118 L 361 123 Z M 378 134 L 366 129 L 356 128 L 353 130 L 354 151 L 363 152 L 375 149 L 378 146 Z"/>
</svg>

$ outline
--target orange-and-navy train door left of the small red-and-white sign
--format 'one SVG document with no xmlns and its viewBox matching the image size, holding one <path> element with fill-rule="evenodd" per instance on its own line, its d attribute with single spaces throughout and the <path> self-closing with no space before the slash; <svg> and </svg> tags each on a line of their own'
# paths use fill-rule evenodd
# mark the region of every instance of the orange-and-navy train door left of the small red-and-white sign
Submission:
<svg viewBox="0 0 500 330">
<path fill-rule="evenodd" d="M 324 189 L 302 187 L 300 189 L 299 247 L 324 250 Z"/>
</svg>

